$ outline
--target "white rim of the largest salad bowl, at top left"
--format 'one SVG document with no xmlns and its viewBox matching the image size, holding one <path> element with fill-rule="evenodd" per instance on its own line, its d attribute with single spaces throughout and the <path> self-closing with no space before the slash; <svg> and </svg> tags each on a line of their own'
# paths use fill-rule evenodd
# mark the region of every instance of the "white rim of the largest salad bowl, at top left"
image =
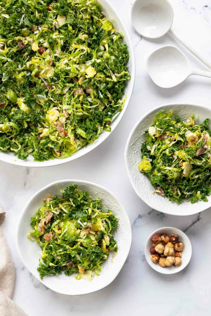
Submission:
<svg viewBox="0 0 211 316">
<path fill-rule="evenodd" d="M 5 154 L 5 158 L 1 157 L 0 155 L 0 161 L 3 161 L 3 162 L 6 162 L 6 163 L 9 163 L 9 164 L 12 164 L 12 165 L 15 165 L 15 166 L 21 166 L 21 167 L 35 167 L 35 168 L 39 168 L 39 167 L 51 167 L 51 166 L 57 166 L 57 165 L 61 165 L 61 164 L 64 164 L 66 162 L 69 162 L 69 161 L 73 161 L 75 159 L 78 159 L 86 154 L 88 154 L 90 151 L 92 151 L 93 149 L 95 149 L 97 146 L 99 146 L 100 144 L 103 143 L 103 141 L 105 141 L 109 136 L 110 134 L 115 130 L 115 128 L 117 127 L 117 125 L 120 123 L 121 119 L 123 118 L 126 110 L 127 110 L 127 107 L 130 103 L 130 99 L 132 97 L 132 94 L 133 94 L 133 88 L 134 88 L 134 82 L 135 82 L 135 54 L 134 54 L 134 49 L 133 49 L 133 44 L 132 44 L 132 40 L 131 40 L 131 37 L 127 31 L 127 27 L 125 26 L 122 18 L 118 15 L 115 7 L 113 6 L 113 4 L 111 4 L 109 2 L 109 0 L 99 0 L 99 3 L 102 5 L 102 9 L 103 9 L 103 4 L 102 2 L 106 3 L 106 6 L 107 6 L 107 10 L 108 11 L 111 11 L 113 12 L 117 17 L 118 17 L 118 20 L 121 24 L 121 31 L 124 35 L 124 39 L 127 37 L 127 47 L 128 47 L 128 50 L 129 50 L 129 53 L 130 53 L 130 56 L 129 56 L 129 60 L 130 60 L 130 64 L 131 64 L 131 69 L 130 69 L 130 80 L 129 80 L 129 83 L 130 84 L 130 93 L 127 94 L 127 99 L 125 101 L 125 104 L 124 104 L 124 107 L 123 109 L 121 110 L 121 112 L 119 113 L 116 113 L 115 116 L 113 117 L 111 123 L 114 123 L 116 119 L 119 118 L 119 121 L 117 122 L 117 124 L 114 124 L 114 126 L 112 126 L 112 130 L 110 132 L 108 132 L 108 135 L 106 135 L 106 137 L 102 140 L 100 140 L 101 138 L 101 135 L 99 135 L 99 143 L 97 143 L 97 139 L 95 142 L 93 142 L 92 144 L 88 144 L 87 147 L 82 147 L 81 149 L 86 149 L 85 152 L 81 152 L 81 149 L 79 149 L 77 152 L 75 152 L 73 155 L 71 155 L 70 157 L 67 157 L 67 158 L 63 158 L 63 159 L 59 159 L 59 158 L 54 158 L 54 159 L 48 159 L 46 163 L 46 161 L 28 161 L 26 163 L 25 160 L 21 160 L 21 159 L 18 159 L 15 155 L 14 156 L 14 159 L 11 160 L 11 161 L 7 161 L 7 156 L 8 155 L 7 153 L 4 153 L 3 151 L 0 152 L 0 153 L 3 153 Z M 109 18 L 109 16 L 108 16 Z M 122 100 L 125 98 L 125 95 L 122 96 Z M 10 153 L 11 154 L 11 153 Z M 75 156 L 75 154 L 77 154 L 77 156 Z M 36 164 L 36 162 L 39 162 L 39 164 Z M 44 163 L 45 164 L 44 164 Z"/>
</svg>

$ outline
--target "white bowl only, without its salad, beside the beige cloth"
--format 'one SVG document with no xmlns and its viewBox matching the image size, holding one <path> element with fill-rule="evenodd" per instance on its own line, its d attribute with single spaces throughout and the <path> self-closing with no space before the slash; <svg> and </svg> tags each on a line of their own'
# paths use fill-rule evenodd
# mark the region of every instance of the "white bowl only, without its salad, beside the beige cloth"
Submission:
<svg viewBox="0 0 211 316">
<path fill-rule="evenodd" d="M 102 209 L 112 210 L 113 214 L 119 218 L 118 227 L 114 232 L 114 238 L 118 245 L 118 254 L 113 258 L 112 263 L 112 254 L 110 253 L 109 257 L 102 264 L 100 275 L 95 275 L 91 282 L 84 279 L 76 280 L 73 276 L 66 276 L 64 273 L 59 276 L 45 276 L 41 280 L 37 271 L 40 259 L 40 246 L 36 241 L 31 242 L 27 238 L 28 231 L 32 229 L 30 219 L 34 216 L 35 211 L 43 205 L 43 199 L 47 193 L 61 196 L 58 187 L 64 190 L 71 184 L 78 184 L 79 189 L 88 191 L 94 199 L 100 197 Z M 131 242 L 132 231 L 130 220 L 121 203 L 110 191 L 102 186 L 82 180 L 60 180 L 40 189 L 26 204 L 17 227 L 17 249 L 25 266 L 48 288 L 66 295 L 88 294 L 109 285 L 125 263 L 130 251 Z"/>
</svg>

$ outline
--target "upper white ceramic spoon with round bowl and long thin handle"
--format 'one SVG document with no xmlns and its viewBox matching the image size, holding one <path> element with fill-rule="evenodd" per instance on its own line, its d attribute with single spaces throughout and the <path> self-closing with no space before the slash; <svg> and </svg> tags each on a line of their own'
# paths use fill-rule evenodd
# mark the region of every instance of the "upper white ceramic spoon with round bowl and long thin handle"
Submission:
<svg viewBox="0 0 211 316">
<path fill-rule="evenodd" d="M 211 68 L 211 62 L 204 59 L 188 42 L 183 40 L 172 28 L 173 9 L 167 0 L 135 0 L 131 10 L 131 20 L 135 30 L 142 36 L 155 39 L 168 31 L 194 54 L 203 64 Z"/>
</svg>

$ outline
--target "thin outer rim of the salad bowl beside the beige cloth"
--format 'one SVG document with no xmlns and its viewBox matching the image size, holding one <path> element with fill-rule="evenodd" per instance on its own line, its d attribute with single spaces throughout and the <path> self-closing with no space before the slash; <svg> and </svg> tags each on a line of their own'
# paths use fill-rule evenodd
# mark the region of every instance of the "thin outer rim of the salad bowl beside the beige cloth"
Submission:
<svg viewBox="0 0 211 316">
<path fill-rule="evenodd" d="M 22 212 L 21 212 L 21 215 L 20 215 L 20 217 L 19 217 L 18 224 L 17 224 L 17 228 L 16 228 L 16 248 L 17 248 L 18 254 L 19 254 L 19 256 L 20 256 L 20 258 L 21 258 L 21 260 L 22 260 L 22 263 L 25 265 L 25 267 L 29 270 L 29 272 L 32 273 L 32 275 L 33 275 L 38 281 L 40 281 L 42 284 L 44 284 L 41 279 L 39 279 L 37 276 L 34 275 L 33 269 L 31 269 L 31 267 L 28 266 L 28 264 L 26 264 L 25 261 L 24 261 L 23 258 L 22 258 L 22 255 L 21 255 L 21 247 L 20 247 L 20 241 L 19 241 L 19 235 L 20 235 L 20 230 L 21 230 L 21 222 L 22 222 L 22 219 L 23 219 L 23 217 L 25 216 L 25 214 L 26 214 L 26 212 L 27 212 L 27 210 L 28 210 L 29 205 L 31 204 L 31 202 L 33 202 L 33 200 L 34 200 L 35 197 L 37 197 L 38 195 L 40 195 L 40 193 L 41 193 L 42 191 L 46 190 L 47 188 L 52 187 L 53 185 L 57 185 L 57 184 L 59 184 L 59 183 L 63 183 L 63 184 L 64 184 L 65 182 L 67 182 L 67 183 L 68 183 L 68 182 L 76 182 L 76 183 L 85 184 L 85 185 L 94 185 L 94 186 L 96 187 L 96 189 L 97 189 L 97 188 L 100 188 L 101 190 L 108 192 L 108 193 L 109 193 L 112 197 L 114 197 L 115 200 L 117 200 L 117 202 L 121 205 L 121 208 L 122 208 L 122 210 L 123 210 L 124 213 L 125 213 L 125 219 L 126 219 L 127 225 L 128 225 L 128 230 L 129 230 L 129 236 L 128 236 L 128 238 L 129 238 L 129 247 L 128 247 L 127 251 L 125 252 L 125 256 L 124 256 L 124 258 L 123 258 L 123 260 L 122 260 L 122 263 L 121 263 L 119 266 L 117 266 L 116 275 L 115 275 L 115 277 L 114 277 L 111 281 L 109 280 L 108 282 L 105 282 L 103 285 L 101 285 L 101 282 L 99 282 L 99 283 L 98 283 L 99 286 L 98 286 L 95 290 L 84 291 L 84 292 L 82 291 L 81 294 L 67 294 L 67 293 L 62 292 L 62 291 L 57 292 L 57 293 L 64 294 L 64 295 L 84 295 L 84 294 L 90 294 L 90 293 L 93 293 L 93 292 L 96 292 L 96 291 L 99 291 L 99 290 L 105 288 L 106 286 L 108 286 L 110 283 L 112 283 L 112 282 L 115 280 L 115 278 L 117 277 L 117 275 L 120 273 L 120 271 L 121 271 L 123 265 L 125 264 L 125 261 L 127 260 L 127 257 L 128 257 L 129 252 L 130 252 L 131 245 L 132 245 L 132 227 L 131 227 L 131 223 L 130 223 L 129 216 L 127 215 L 127 211 L 125 210 L 125 208 L 123 207 L 123 205 L 121 204 L 121 202 L 119 201 L 119 199 L 117 199 L 117 197 L 115 197 L 115 195 L 114 195 L 111 191 L 109 191 L 108 189 L 106 189 L 106 188 L 103 187 L 102 185 L 98 185 L 98 184 L 96 184 L 96 183 L 94 183 L 94 182 L 85 181 L 85 180 L 79 180 L 79 179 L 63 179 L 63 180 L 53 181 L 53 182 L 49 183 L 48 185 L 45 185 L 44 187 L 42 187 L 40 190 L 36 191 L 36 192 L 32 195 L 32 197 L 30 197 L 30 199 L 28 200 L 28 202 L 25 204 L 25 206 L 24 206 L 24 208 L 23 208 L 23 210 L 22 210 Z M 26 238 L 27 238 L 27 236 L 26 236 Z M 44 284 L 44 285 L 45 285 L 46 287 L 48 287 L 46 284 Z M 51 288 L 49 288 L 49 289 L 51 289 Z M 55 292 L 54 289 L 51 289 L 51 290 Z"/>
</svg>

